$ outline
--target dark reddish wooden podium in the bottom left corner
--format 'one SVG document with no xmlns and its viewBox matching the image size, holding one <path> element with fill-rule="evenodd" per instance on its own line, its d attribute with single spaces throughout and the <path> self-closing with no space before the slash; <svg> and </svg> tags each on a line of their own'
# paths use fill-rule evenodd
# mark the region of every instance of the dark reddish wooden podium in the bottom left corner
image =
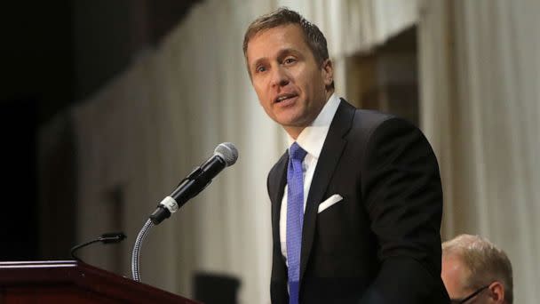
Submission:
<svg viewBox="0 0 540 304">
<path fill-rule="evenodd" d="M 198 303 L 75 260 L 0 262 L 0 303 Z"/>
</svg>

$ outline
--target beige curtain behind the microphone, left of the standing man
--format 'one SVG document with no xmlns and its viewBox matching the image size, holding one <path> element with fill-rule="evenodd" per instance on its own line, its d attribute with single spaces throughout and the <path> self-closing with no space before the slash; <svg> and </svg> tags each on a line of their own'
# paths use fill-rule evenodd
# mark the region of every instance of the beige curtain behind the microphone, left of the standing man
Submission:
<svg viewBox="0 0 540 304">
<path fill-rule="evenodd" d="M 209 1 L 195 7 L 158 48 L 139 58 L 74 116 L 78 142 L 80 240 L 115 223 L 123 244 L 121 271 L 131 276 L 131 248 L 155 205 L 179 180 L 234 142 L 240 157 L 200 196 L 153 228 L 142 248 L 143 282 L 192 296 L 195 271 L 238 276 L 241 300 L 268 299 L 271 236 L 266 172 L 282 150 L 282 132 L 250 88 L 242 34 L 264 5 Z M 118 207 L 107 199 L 123 192 Z M 121 214 L 112 214 L 120 211 Z M 115 259 L 88 251 L 104 268 Z"/>
</svg>

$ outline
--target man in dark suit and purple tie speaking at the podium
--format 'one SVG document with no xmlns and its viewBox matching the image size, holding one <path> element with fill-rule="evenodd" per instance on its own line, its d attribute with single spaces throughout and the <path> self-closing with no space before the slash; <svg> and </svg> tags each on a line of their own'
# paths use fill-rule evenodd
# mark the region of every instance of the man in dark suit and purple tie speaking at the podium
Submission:
<svg viewBox="0 0 540 304">
<path fill-rule="evenodd" d="M 442 191 L 423 134 L 334 94 L 319 28 L 279 9 L 243 52 L 266 114 L 290 136 L 268 174 L 273 303 L 448 303 Z"/>
</svg>

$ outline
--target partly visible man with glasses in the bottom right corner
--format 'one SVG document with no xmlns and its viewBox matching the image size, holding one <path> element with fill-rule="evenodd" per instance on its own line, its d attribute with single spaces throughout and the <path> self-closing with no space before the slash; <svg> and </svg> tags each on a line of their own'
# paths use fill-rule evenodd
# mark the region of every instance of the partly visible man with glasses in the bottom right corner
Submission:
<svg viewBox="0 0 540 304">
<path fill-rule="evenodd" d="M 512 304 L 512 264 L 480 236 L 461 235 L 442 244 L 441 276 L 453 304 Z"/>
</svg>

